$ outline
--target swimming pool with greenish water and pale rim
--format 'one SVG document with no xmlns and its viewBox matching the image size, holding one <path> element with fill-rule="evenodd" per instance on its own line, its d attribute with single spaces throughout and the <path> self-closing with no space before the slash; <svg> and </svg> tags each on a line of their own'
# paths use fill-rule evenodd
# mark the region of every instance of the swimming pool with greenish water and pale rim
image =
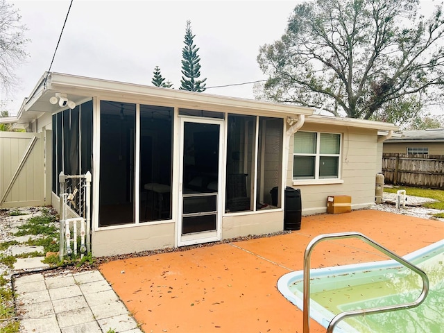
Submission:
<svg viewBox="0 0 444 333">
<path fill-rule="evenodd" d="M 443 332 L 444 240 L 404 258 L 420 267 L 429 278 L 429 295 L 422 305 L 349 318 L 339 323 L 334 332 Z M 282 276 L 278 289 L 302 309 L 303 271 Z M 342 311 L 412 302 L 421 289 L 419 275 L 394 260 L 315 268 L 311 270 L 310 316 L 327 328 L 332 318 Z"/>
</svg>

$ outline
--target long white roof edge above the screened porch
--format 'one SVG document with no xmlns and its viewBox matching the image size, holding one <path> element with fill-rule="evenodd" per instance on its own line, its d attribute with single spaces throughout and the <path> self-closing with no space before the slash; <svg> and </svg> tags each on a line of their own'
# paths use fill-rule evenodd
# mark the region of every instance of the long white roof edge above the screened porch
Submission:
<svg viewBox="0 0 444 333">
<path fill-rule="evenodd" d="M 251 114 L 263 112 L 269 114 L 305 114 L 311 115 L 314 109 L 296 105 L 269 103 L 249 99 L 238 99 L 198 92 L 185 92 L 179 89 L 149 87 L 132 83 L 122 83 L 68 74 L 51 73 L 46 84 L 47 89 L 62 91 L 78 96 L 118 96 L 122 99 L 171 103 L 182 108 L 197 108 L 214 111 L 236 111 Z"/>
</svg>

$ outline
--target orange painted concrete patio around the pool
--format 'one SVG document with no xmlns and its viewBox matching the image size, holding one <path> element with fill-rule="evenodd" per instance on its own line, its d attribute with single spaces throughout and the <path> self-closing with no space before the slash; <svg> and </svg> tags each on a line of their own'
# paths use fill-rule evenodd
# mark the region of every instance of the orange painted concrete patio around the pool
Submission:
<svg viewBox="0 0 444 333">
<path fill-rule="evenodd" d="M 444 223 L 377 210 L 305 216 L 289 234 L 121 259 L 100 271 L 146 333 L 302 333 L 302 311 L 280 294 L 278 279 L 302 269 L 318 234 L 347 231 L 406 255 L 443 239 Z M 363 241 L 339 239 L 318 244 L 311 267 L 382 259 Z M 325 332 L 315 321 L 310 329 Z"/>
</svg>

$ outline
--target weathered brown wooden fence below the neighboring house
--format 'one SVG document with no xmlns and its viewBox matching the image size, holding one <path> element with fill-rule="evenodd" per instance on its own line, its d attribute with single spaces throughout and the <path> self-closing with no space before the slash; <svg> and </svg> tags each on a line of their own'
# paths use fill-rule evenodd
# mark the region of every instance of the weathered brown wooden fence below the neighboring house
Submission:
<svg viewBox="0 0 444 333">
<path fill-rule="evenodd" d="M 444 189 L 444 155 L 382 154 L 384 182 Z"/>
</svg>

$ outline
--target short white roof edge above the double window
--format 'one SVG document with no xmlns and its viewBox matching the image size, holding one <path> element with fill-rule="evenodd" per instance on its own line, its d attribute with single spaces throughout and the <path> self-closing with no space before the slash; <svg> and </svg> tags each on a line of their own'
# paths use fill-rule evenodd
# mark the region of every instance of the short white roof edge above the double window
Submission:
<svg viewBox="0 0 444 333">
<path fill-rule="evenodd" d="M 336 126 L 349 126 L 355 128 L 368 128 L 372 130 L 399 130 L 398 126 L 393 125 L 393 123 L 384 123 L 382 121 L 373 121 L 365 119 L 355 119 L 355 118 L 341 118 L 341 117 L 330 117 L 321 116 L 314 114 L 312 116 L 305 118 L 305 123 L 319 123 L 325 125 L 336 125 Z"/>
</svg>

